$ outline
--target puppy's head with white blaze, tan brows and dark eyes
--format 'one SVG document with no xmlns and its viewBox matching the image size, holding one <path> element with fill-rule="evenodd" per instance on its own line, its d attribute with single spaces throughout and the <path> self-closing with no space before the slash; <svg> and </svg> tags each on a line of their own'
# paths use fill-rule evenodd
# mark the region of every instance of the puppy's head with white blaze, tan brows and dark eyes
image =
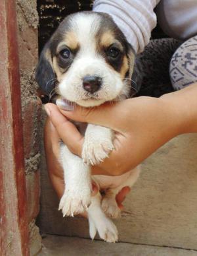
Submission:
<svg viewBox="0 0 197 256">
<path fill-rule="evenodd" d="M 129 95 L 133 48 L 109 15 L 67 16 L 41 53 L 36 80 L 81 106 L 98 106 Z"/>
</svg>

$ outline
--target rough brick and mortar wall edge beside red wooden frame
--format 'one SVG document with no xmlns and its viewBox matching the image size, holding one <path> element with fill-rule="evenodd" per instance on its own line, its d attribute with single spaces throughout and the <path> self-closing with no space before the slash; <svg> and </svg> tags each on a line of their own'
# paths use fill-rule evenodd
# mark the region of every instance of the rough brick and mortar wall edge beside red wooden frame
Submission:
<svg viewBox="0 0 197 256">
<path fill-rule="evenodd" d="M 37 84 L 34 80 L 38 57 L 37 25 L 39 18 L 36 7 L 36 0 L 16 1 L 31 255 L 35 255 L 41 249 L 39 229 L 35 226 L 35 218 L 39 212 L 40 193 L 39 121 L 41 110 L 41 101 L 36 96 Z"/>
</svg>

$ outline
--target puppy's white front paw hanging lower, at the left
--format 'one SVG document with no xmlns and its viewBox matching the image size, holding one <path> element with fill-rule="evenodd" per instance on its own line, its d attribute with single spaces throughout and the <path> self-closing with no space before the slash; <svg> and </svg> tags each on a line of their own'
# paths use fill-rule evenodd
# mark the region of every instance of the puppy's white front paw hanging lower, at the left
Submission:
<svg viewBox="0 0 197 256">
<path fill-rule="evenodd" d="M 91 204 L 91 190 L 64 191 L 60 200 L 59 210 L 62 210 L 63 216 L 74 216 L 85 212 Z"/>
</svg>

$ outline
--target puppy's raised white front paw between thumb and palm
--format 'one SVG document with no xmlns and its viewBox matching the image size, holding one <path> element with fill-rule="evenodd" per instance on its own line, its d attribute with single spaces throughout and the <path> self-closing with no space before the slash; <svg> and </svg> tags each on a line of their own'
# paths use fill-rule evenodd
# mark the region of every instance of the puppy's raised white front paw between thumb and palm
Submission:
<svg viewBox="0 0 197 256">
<path fill-rule="evenodd" d="M 99 164 L 108 157 L 114 145 L 110 138 L 87 136 L 83 143 L 82 158 L 86 164 Z"/>
</svg>

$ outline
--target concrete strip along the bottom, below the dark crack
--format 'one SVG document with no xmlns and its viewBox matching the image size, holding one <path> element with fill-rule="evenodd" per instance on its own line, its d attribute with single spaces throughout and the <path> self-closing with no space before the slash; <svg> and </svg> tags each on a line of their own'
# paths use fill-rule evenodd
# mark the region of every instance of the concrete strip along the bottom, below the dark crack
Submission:
<svg viewBox="0 0 197 256">
<path fill-rule="evenodd" d="M 137 245 L 132 243 L 105 243 L 83 238 L 47 236 L 39 256 L 196 256 L 197 251 Z"/>
</svg>

